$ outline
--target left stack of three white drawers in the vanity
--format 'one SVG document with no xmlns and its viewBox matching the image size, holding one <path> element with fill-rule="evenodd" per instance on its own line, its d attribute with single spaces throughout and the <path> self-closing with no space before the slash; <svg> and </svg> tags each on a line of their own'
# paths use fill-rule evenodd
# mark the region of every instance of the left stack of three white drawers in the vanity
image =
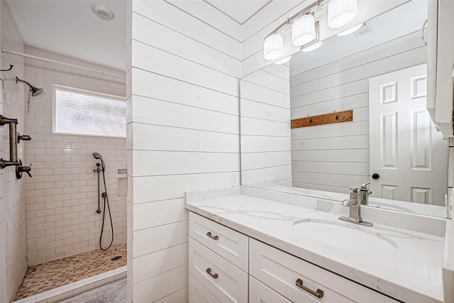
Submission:
<svg viewBox="0 0 454 303">
<path fill-rule="evenodd" d="M 189 302 L 210 295 L 217 301 L 207 302 L 248 302 L 248 236 L 190 212 Z"/>
</svg>

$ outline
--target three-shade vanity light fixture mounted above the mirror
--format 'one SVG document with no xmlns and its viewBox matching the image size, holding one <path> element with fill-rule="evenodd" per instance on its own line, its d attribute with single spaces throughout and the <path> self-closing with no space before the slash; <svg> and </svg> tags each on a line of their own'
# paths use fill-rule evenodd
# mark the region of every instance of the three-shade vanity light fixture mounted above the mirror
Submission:
<svg viewBox="0 0 454 303">
<path fill-rule="evenodd" d="M 295 13 L 287 21 L 278 26 L 274 31 L 265 37 L 263 42 L 263 57 L 265 60 L 275 60 L 284 53 L 284 38 L 282 32 L 292 28 L 292 43 L 297 46 L 315 50 L 320 45 L 319 21 L 315 21 L 314 14 L 321 10 L 324 4 L 328 3 L 328 25 L 331 28 L 338 28 L 353 21 L 358 11 L 358 0 L 317 0 L 306 6 L 303 10 Z M 310 51 L 310 50 L 306 50 Z"/>
</svg>

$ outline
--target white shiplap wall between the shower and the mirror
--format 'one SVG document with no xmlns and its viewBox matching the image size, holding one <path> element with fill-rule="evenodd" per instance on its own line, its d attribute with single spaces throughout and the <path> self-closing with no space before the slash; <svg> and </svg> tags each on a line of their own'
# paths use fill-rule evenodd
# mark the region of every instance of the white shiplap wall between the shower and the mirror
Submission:
<svg viewBox="0 0 454 303">
<path fill-rule="evenodd" d="M 184 192 L 240 175 L 238 27 L 191 3 L 128 2 L 128 302 L 188 301 Z"/>
</svg>

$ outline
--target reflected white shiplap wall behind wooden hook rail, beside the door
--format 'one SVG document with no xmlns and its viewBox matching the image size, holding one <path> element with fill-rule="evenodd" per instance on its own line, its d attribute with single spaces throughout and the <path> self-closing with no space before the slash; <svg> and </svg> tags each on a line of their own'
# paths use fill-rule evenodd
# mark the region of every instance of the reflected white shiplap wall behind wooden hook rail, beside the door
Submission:
<svg viewBox="0 0 454 303">
<path fill-rule="evenodd" d="M 423 62 L 418 32 L 290 77 L 292 119 L 353 109 L 353 122 L 292 129 L 293 186 L 346 193 L 367 182 L 369 78 Z"/>
</svg>

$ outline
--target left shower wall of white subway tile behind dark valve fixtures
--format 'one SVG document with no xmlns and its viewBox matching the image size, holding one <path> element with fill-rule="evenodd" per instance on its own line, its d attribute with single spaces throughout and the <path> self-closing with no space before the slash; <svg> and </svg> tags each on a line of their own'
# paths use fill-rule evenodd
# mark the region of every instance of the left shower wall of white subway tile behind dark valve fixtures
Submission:
<svg viewBox="0 0 454 303">
<path fill-rule="evenodd" d="M 1 47 L 23 52 L 25 45 L 11 11 L 5 1 L 0 1 Z M 18 119 L 17 130 L 24 130 L 26 85 L 16 84 L 13 77 L 24 77 L 24 60 L 21 57 L 1 54 L 0 66 L 14 65 L 10 72 L 3 72 L 1 83 L 2 115 Z M 1 158 L 10 159 L 9 126 L 0 127 Z M 23 159 L 24 145 L 18 145 L 18 158 Z M 26 260 L 26 180 L 16 179 L 14 167 L 0 170 L 0 302 L 11 302 L 16 296 Z"/>
</svg>

